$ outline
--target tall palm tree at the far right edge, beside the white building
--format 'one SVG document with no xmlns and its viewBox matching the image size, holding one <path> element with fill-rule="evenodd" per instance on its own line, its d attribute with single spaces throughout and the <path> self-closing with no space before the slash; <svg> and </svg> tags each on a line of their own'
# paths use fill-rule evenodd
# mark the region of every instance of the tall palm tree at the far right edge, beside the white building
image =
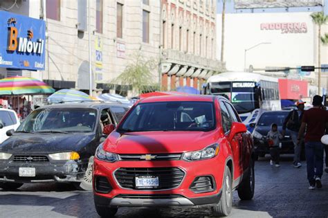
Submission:
<svg viewBox="0 0 328 218">
<path fill-rule="evenodd" d="M 321 66 L 321 26 L 326 24 L 328 16 L 325 16 L 323 12 L 315 12 L 311 14 L 313 22 L 318 25 L 318 67 Z M 318 69 L 318 95 L 320 95 L 320 84 L 321 84 L 321 69 Z"/>
</svg>

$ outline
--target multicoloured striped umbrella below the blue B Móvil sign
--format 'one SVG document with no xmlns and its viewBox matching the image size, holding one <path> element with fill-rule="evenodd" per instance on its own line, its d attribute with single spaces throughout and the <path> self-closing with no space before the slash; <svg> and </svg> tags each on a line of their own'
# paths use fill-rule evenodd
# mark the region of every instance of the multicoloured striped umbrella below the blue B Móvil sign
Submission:
<svg viewBox="0 0 328 218">
<path fill-rule="evenodd" d="M 0 96 L 54 93 L 55 89 L 35 78 L 15 76 L 0 80 Z"/>
</svg>

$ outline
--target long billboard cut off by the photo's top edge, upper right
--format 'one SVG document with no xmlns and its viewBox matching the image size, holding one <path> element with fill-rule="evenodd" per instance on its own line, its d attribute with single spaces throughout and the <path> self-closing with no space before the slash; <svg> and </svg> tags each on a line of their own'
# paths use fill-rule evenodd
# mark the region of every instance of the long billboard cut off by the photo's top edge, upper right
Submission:
<svg viewBox="0 0 328 218">
<path fill-rule="evenodd" d="M 323 0 L 235 0 L 235 9 L 323 6 Z"/>
</svg>

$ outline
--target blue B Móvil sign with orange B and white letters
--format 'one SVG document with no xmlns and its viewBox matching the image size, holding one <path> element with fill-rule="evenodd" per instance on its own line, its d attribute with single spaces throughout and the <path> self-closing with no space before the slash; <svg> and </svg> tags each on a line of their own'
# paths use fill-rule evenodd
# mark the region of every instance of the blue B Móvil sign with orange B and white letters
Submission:
<svg viewBox="0 0 328 218">
<path fill-rule="evenodd" d="M 44 21 L 0 11 L 0 29 L 0 67 L 44 70 Z"/>
</svg>

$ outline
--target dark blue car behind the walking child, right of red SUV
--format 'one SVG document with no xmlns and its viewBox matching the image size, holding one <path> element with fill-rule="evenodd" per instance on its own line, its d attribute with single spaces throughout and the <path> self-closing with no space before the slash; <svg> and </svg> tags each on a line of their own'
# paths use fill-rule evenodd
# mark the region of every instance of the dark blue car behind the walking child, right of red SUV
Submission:
<svg viewBox="0 0 328 218">
<path fill-rule="evenodd" d="M 253 131 L 253 140 L 255 146 L 255 159 L 259 156 L 263 157 L 265 154 L 270 154 L 270 149 L 268 147 L 268 143 L 266 143 L 266 139 L 263 136 L 268 134 L 268 131 L 271 129 L 271 124 L 274 122 L 278 126 L 278 131 L 280 134 L 282 133 L 282 124 L 286 116 L 290 111 L 264 111 L 259 120 L 255 125 L 255 129 Z M 291 140 L 290 131 L 286 129 L 286 134 L 284 138 L 281 140 L 282 147 L 280 149 L 280 154 L 293 154 L 294 153 L 294 145 Z M 301 158 L 304 159 L 304 147 L 302 148 Z"/>
</svg>

